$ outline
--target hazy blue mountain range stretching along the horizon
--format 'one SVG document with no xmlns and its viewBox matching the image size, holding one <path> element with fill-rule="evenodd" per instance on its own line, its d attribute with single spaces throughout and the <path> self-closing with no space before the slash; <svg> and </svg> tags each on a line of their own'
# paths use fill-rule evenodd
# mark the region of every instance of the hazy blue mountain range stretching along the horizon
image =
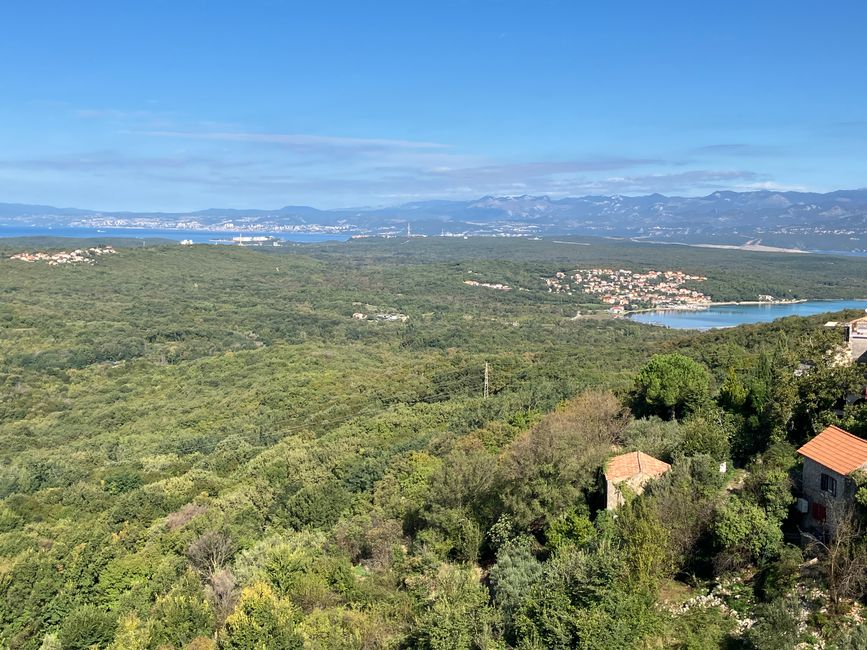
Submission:
<svg viewBox="0 0 867 650">
<path fill-rule="evenodd" d="M 659 242 L 867 251 L 867 189 L 703 197 L 485 196 L 385 208 L 111 212 L 0 203 L 0 225 L 421 235 L 608 235 Z"/>
</svg>

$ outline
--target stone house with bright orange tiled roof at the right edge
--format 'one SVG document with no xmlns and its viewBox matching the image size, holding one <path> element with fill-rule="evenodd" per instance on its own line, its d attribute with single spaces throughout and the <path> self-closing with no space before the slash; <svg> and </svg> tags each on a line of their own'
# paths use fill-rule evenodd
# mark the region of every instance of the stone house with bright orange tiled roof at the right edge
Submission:
<svg viewBox="0 0 867 650">
<path fill-rule="evenodd" d="M 833 514 L 854 501 L 852 474 L 867 469 L 867 440 L 831 425 L 798 453 L 804 458 L 801 489 L 807 501 L 806 523 L 833 531 Z"/>
</svg>

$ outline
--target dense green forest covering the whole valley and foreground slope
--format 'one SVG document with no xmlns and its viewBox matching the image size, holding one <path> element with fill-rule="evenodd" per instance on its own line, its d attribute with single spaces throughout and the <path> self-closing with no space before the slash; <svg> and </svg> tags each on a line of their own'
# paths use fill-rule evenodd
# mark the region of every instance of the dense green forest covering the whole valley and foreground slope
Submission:
<svg viewBox="0 0 867 650">
<path fill-rule="evenodd" d="M 867 260 L 413 239 L 52 267 L 24 245 L 0 250 L 3 647 L 867 647 L 863 513 L 825 549 L 792 537 L 796 446 L 867 436 L 842 332 L 575 319 L 588 299 L 542 282 L 863 297 Z M 616 450 L 672 470 L 613 514 Z"/>
</svg>

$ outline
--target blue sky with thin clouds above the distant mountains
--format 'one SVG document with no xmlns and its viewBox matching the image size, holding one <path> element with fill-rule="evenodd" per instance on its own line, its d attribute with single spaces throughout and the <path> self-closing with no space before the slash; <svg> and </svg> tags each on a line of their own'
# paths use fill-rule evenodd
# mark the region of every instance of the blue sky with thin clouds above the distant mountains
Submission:
<svg viewBox="0 0 867 650">
<path fill-rule="evenodd" d="M 3 3 L 0 201 L 864 187 L 865 25 L 860 1 Z"/>
</svg>

